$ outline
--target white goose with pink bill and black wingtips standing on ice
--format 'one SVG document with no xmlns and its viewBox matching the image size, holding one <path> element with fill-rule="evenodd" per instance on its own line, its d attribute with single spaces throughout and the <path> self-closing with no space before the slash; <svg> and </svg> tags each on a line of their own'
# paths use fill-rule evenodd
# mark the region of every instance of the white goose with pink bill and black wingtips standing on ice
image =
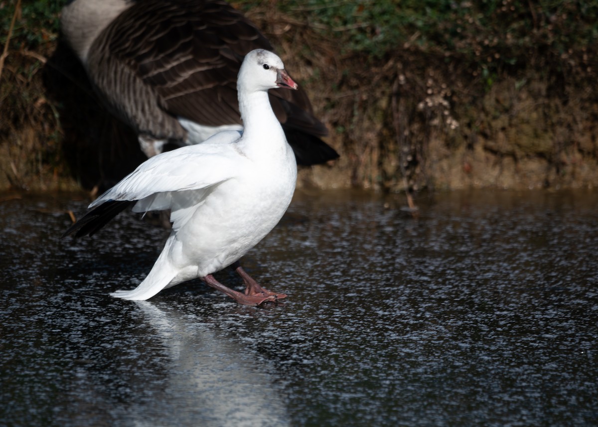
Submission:
<svg viewBox="0 0 598 427">
<path fill-rule="evenodd" d="M 277 224 L 295 190 L 295 157 L 267 93 L 277 87 L 297 89 L 297 84 L 276 54 L 251 51 L 237 80 L 243 132 L 221 132 L 203 144 L 149 158 L 63 234 L 91 236 L 132 203 L 135 212 L 171 209 L 172 231 L 151 272 L 132 291 L 111 295 L 147 300 L 199 277 L 241 304 L 286 296 L 262 288 L 237 262 Z M 245 293 L 212 276 L 233 264 Z"/>
</svg>

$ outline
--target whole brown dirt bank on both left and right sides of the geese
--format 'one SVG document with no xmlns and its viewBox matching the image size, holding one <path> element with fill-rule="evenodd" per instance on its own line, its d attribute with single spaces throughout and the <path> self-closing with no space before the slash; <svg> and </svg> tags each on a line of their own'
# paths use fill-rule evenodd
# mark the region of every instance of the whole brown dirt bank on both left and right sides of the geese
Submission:
<svg viewBox="0 0 598 427">
<path fill-rule="evenodd" d="M 459 56 L 408 41 L 381 56 L 341 54 L 337 41 L 307 21 L 266 8 L 249 17 L 307 88 L 341 154 L 333 164 L 302 170 L 301 185 L 598 185 L 598 63 L 591 56 L 558 66 L 547 62 L 552 57 L 530 58 L 489 78 Z M 0 190 L 106 187 L 144 158 L 62 44 L 10 51 L 0 100 Z"/>
</svg>

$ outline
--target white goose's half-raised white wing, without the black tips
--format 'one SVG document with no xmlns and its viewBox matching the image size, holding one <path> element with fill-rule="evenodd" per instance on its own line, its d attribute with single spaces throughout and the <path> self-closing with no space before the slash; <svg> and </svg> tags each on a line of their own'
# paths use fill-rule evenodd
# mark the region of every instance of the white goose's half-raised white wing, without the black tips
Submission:
<svg viewBox="0 0 598 427">
<path fill-rule="evenodd" d="M 176 211 L 196 205 L 210 188 L 237 175 L 244 159 L 234 145 L 239 135 L 221 132 L 204 144 L 151 157 L 89 207 L 108 200 L 138 200 L 135 212 Z"/>
</svg>

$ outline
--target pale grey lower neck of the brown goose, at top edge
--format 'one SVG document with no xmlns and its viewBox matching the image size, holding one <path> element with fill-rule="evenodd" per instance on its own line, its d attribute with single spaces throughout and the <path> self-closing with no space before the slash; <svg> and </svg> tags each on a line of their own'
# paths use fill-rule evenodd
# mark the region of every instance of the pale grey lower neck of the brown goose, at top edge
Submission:
<svg viewBox="0 0 598 427">
<path fill-rule="evenodd" d="M 62 32 L 81 62 L 87 64 L 87 54 L 93 41 L 132 5 L 132 0 L 75 0 L 62 9 Z"/>
</svg>

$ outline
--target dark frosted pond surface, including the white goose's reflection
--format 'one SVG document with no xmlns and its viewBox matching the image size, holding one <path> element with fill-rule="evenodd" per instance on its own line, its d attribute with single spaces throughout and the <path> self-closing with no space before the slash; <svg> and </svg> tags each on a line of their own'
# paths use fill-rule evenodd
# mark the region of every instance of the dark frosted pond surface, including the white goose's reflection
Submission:
<svg viewBox="0 0 598 427">
<path fill-rule="evenodd" d="M 289 295 L 266 310 L 200 282 L 115 300 L 164 230 L 61 241 L 86 203 L 3 200 L 0 425 L 598 425 L 598 194 L 417 203 L 298 194 L 244 261 Z"/>
</svg>

